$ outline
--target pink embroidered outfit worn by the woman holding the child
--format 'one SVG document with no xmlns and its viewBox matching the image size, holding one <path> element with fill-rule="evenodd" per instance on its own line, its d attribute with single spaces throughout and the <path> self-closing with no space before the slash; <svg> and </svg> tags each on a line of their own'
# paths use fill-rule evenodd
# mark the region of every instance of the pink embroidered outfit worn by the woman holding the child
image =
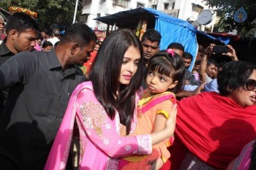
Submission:
<svg viewBox="0 0 256 170">
<path fill-rule="evenodd" d="M 137 96 L 136 100 L 139 100 Z M 134 122 L 130 133 L 136 125 Z M 65 169 L 72 139 L 74 122 L 80 134 L 80 169 L 117 169 L 119 157 L 151 153 L 150 135 L 120 137 L 119 117 L 111 120 L 94 96 L 91 82 L 83 82 L 75 88 L 69 100 L 45 169 Z"/>
</svg>

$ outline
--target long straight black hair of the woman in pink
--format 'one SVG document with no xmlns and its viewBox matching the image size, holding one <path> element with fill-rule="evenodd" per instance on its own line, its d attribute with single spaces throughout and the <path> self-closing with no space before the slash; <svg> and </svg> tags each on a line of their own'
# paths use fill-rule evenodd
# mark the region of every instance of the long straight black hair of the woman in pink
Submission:
<svg viewBox="0 0 256 170">
<path fill-rule="evenodd" d="M 131 46 L 140 50 L 140 63 L 129 85 L 120 85 L 118 79 L 124 53 Z M 111 32 L 99 48 L 89 73 L 89 80 L 92 82 L 99 103 L 112 120 L 115 111 L 118 111 L 121 123 L 127 126 L 127 134 L 135 111 L 135 92 L 140 88 L 142 76 L 143 48 L 138 37 L 129 29 Z"/>
</svg>

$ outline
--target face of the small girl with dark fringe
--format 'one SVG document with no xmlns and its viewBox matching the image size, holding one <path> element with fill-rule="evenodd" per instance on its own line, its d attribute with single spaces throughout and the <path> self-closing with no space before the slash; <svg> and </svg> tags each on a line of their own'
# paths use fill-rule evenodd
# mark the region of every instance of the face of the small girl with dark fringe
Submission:
<svg viewBox="0 0 256 170">
<path fill-rule="evenodd" d="M 148 85 L 148 90 L 150 90 L 151 93 L 163 93 L 169 88 L 175 88 L 177 83 L 178 81 L 173 82 L 171 77 L 159 74 L 157 71 L 148 70 L 146 84 Z"/>
</svg>

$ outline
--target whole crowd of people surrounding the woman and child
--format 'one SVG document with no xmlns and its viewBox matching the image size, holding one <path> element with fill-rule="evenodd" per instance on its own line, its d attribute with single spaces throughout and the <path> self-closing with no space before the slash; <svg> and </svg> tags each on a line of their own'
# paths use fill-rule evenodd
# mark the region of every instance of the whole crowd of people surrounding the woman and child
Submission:
<svg viewBox="0 0 256 170">
<path fill-rule="evenodd" d="M 4 169 L 256 169 L 256 65 L 231 45 L 201 46 L 189 71 L 186 45 L 160 50 L 151 28 L 50 37 L 16 12 L 0 36 Z"/>
</svg>

